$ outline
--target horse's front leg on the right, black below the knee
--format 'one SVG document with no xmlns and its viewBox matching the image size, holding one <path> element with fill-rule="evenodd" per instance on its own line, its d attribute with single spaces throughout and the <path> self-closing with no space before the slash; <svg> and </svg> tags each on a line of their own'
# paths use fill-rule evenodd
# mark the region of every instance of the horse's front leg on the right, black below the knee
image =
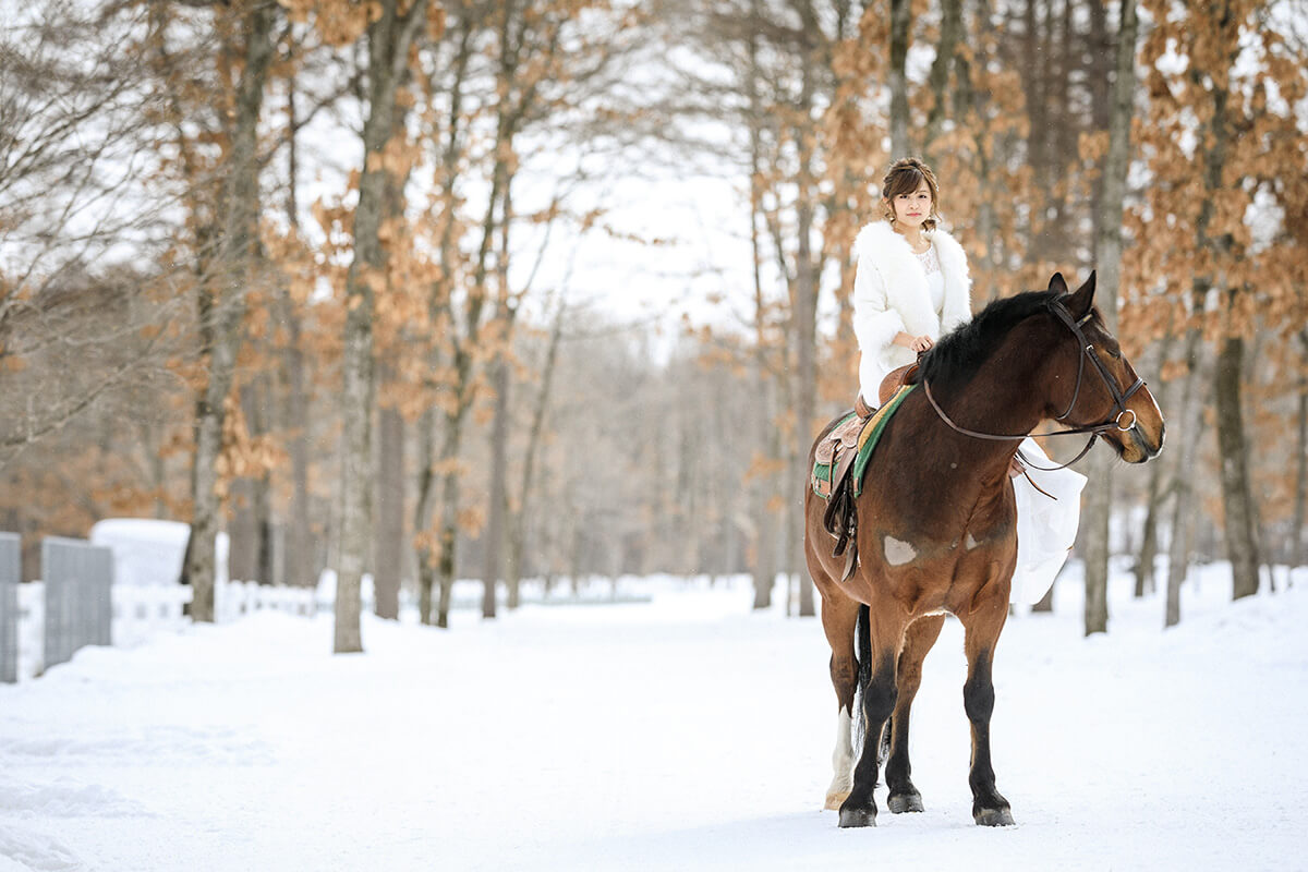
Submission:
<svg viewBox="0 0 1308 872">
<path fill-rule="evenodd" d="M 985 591 L 982 591 L 982 595 Z M 964 648 L 968 654 L 968 680 L 963 685 L 963 707 L 972 722 L 972 818 L 984 826 L 1012 824 L 1008 800 L 994 786 L 994 767 L 990 765 L 990 713 L 994 711 L 994 682 L 990 667 L 994 647 L 1008 616 L 1007 597 L 989 596 L 976 603 L 963 617 L 967 629 Z"/>
</svg>

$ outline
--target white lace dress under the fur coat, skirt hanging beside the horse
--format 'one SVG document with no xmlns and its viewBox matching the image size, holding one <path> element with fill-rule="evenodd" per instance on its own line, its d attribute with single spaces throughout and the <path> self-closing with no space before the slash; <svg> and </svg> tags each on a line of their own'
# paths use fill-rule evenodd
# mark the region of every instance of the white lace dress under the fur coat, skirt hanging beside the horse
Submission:
<svg viewBox="0 0 1308 872">
<path fill-rule="evenodd" d="M 926 275 L 931 307 L 939 316 L 944 306 L 944 276 L 940 273 L 935 246 L 930 246 L 922 254 L 913 254 Z M 1040 450 L 1035 439 L 1022 441 L 1022 454 L 1037 465 L 1057 465 Z M 1008 599 L 1012 603 L 1033 605 L 1054 583 L 1054 577 L 1067 561 L 1067 552 L 1076 540 L 1080 492 L 1086 486 L 1086 476 L 1071 469 L 1045 472 L 1035 468 L 1028 468 L 1028 475 L 1050 495 L 1046 497 L 1036 490 L 1025 477 L 1019 476 L 1012 480 L 1012 492 L 1018 501 L 1018 567 L 1012 573 L 1012 592 Z"/>
</svg>

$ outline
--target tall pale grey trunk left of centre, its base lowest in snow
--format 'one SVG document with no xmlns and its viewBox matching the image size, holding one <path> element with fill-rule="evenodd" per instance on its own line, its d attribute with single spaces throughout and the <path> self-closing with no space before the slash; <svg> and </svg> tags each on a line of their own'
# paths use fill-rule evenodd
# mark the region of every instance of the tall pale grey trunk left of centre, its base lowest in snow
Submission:
<svg viewBox="0 0 1308 872">
<path fill-rule="evenodd" d="M 336 580 L 336 654 L 362 651 L 360 579 L 369 554 L 371 526 L 373 281 L 386 275 L 379 238 L 383 200 L 391 176 L 381 159 L 394 131 L 395 97 L 408 64 L 409 44 L 426 20 L 426 0 L 415 0 L 402 16 L 399 0 L 386 0 L 368 27 L 368 119 L 364 122 L 364 171 L 354 209 L 354 260 L 345 278 L 347 316 L 341 370 L 344 426 L 341 461 L 340 557 Z"/>
</svg>

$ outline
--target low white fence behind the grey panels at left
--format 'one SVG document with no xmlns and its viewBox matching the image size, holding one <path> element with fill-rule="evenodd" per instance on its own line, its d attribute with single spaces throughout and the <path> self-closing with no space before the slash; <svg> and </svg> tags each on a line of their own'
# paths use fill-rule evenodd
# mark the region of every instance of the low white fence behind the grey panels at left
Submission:
<svg viewBox="0 0 1308 872">
<path fill-rule="evenodd" d="M 46 591 L 43 582 L 18 586 L 18 679 L 44 672 Z M 161 633 L 190 625 L 182 609 L 191 601 L 186 584 L 115 584 L 111 639 L 133 647 Z M 213 591 L 213 617 L 229 624 L 254 612 L 314 614 L 314 591 L 306 587 L 271 587 L 256 582 L 218 582 Z"/>
</svg>

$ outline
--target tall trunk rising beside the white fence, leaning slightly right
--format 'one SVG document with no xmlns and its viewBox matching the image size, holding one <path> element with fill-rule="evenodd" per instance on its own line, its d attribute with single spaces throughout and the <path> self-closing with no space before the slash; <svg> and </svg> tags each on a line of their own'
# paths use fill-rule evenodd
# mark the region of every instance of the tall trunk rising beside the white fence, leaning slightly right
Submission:
<svg viewBox="0 0 1308 872">
<path fill-rule="evenodd" d="M 191 582 L 191 617 L 213 621 L 213 540 L 218 532 L 218 493 L 215 464 L 222 450 L 224 403 L 232 390 L 245 290 L 252 280 L 259 239 L 258 128 L 263 89 L 272 60 L 272 21 L 276 8 L 252 4 L 243 22 L 245 65 L 237 86 L 235 116 L 226 182 L 226 221 L 216 281 L 200 286 L 200 329 L 209 337 L 208 382 L 196 405 L 195 454 L 191 464 L 191 546 L 186 577 Z M 217 286 L 215 289 L 215 285 Z M 213 295 L 209 297 L 211 292 Z"/>
</svg>

